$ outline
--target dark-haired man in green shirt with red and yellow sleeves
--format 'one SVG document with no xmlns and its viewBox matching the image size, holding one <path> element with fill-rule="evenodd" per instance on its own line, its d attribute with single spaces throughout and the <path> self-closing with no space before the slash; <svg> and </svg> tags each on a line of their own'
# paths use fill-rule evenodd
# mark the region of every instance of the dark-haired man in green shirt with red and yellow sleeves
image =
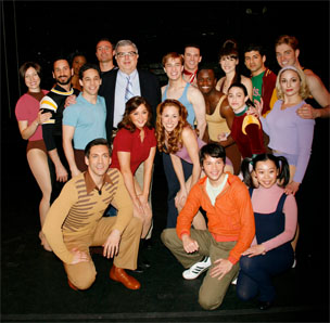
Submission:
<svg viewBox="0 0 330 323">
<path fill-rule="evenodd" d="M 263 99 L 263 115 L 270 111 L 269 103 L 276 85 L 276 74 L 265 66 L 265 62 L 266 54 L 262 46 L 251 43 L 244 49 L 244 63 L 251 72 L 252 101 L 261 102 Z"/>
</svg>

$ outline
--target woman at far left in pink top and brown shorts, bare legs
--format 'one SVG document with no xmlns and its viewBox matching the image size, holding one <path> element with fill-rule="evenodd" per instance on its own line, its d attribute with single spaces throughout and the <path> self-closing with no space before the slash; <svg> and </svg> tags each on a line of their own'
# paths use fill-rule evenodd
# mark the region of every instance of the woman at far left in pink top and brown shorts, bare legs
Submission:
<svg viewBox="0 0 330 323">
<path fill-rule="evenodd" d="M 26 62 L 20 67 L 20 75 L 28 91 L 23 94 L 15 107 L 15 115 L 18 122 L 18 129 L 24 140 L 27 140 L 26 157 L 28 166 L 42 192 L 42 198 L 39 204 L 39 217 L 41 228 L 50 208 L 51 178 L 48 166 L 48 153 L 42 139 L 42 122 L 47 121 L 50 113 L 42 114 L 40 101 L 48 93 L 40 88 L 41 67 L 34 62 Z M 48 244 L 41 230 L 39 232 L 41 245 L 48 251 L 51 247 Z"/>
</svg>

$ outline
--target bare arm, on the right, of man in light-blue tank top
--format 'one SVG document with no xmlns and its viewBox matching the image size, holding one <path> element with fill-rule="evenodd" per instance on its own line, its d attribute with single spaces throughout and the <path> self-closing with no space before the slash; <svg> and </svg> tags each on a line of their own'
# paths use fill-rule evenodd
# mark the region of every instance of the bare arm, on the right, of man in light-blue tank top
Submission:
<svg viewBox="0 0 330 323">
<path fill-rule="evenodd" d="M 199 137 L 202 139 L 206 128 L 206 106 L 204 96 L 198 88 L 189 87 L 187 98 L 192 104 L 200 132 Z"/>
</svg>

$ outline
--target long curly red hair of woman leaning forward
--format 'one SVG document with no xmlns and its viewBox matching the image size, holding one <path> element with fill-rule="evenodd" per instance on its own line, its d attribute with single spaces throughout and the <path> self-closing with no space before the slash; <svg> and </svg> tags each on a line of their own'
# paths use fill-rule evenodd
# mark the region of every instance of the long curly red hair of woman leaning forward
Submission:
<svg viewBox="0 0 330 323">
<path fill-rule="evenodd" d="M 162 124 L 162 114 L 167 106 L 175 106 L 178 109 L 179 121 L 176 128 L 167 133 L 167 140 L 165 137 L 165 128 Z M 182 131 L 183 128 L 190 127 L 190 124 L 187 121 L 188 112 L 183 104 L 181 104 L 178 100 L 167 99 L 158 104 L 157 106 L 157 117 L 156 117 L 156 140 L 157 140 L 157 148 L 160 152 L 175 154 L 178 152 L 182 145 Z M 165 146 L 165 142 L 167 143 L 167 148 Z"/>
</svg>

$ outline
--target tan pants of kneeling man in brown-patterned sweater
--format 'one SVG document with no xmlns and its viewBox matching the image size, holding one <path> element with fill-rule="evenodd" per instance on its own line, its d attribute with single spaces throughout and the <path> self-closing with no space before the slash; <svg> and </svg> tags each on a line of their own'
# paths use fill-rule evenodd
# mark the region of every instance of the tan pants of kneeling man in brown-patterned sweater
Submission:
<svg viewBox="0 0 330 323">
<path fill-rule="evenodd" d="M 117 217 L 101 218 L 92 234 L 80 236 L 64 235 L 64 243 L 68 250 L 78 248 L 89 255 L 89 247 L 102 246 L 109 237 Z M 118 268 L 135 270 L 137 268 L 138 250 L 142 223 L 132 218 L 122 233 L 119 251 L 113 263 Z M 89 288 L 96 280 L 97 271 L 92 259 L 76 264 L 63 263 L 67 279 L 79 289 Z"/>
</svg>

